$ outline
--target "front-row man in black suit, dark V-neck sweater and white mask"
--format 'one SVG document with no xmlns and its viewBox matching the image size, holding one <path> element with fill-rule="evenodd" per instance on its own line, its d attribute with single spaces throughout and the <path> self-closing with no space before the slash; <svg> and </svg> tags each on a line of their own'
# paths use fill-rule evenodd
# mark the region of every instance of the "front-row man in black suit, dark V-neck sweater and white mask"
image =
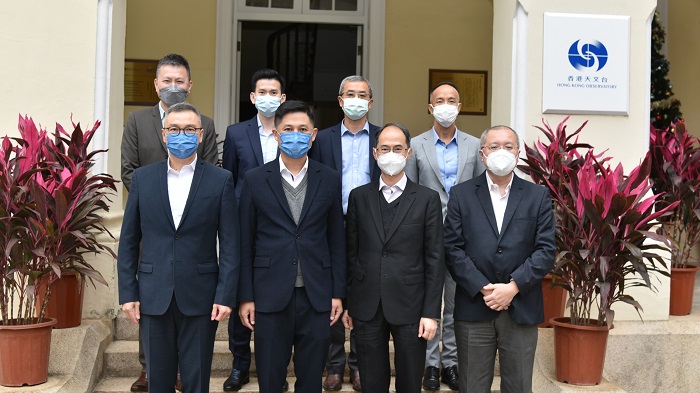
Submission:
<svg viewBox="0 0 700 393">
<path fill-rule="evenodd" d="M 418 393 L 445 279 L 440 196 L 404 174 L 411 154 L 405 127 L 387 124 L 377 131 L 376 144 L 382 175 L 354 189 L 348 203 L 350 280 L 343 322 L 355 330 L 363 391 L 389 391 L 391 333 L 396 391 Z"/>
</svg>

